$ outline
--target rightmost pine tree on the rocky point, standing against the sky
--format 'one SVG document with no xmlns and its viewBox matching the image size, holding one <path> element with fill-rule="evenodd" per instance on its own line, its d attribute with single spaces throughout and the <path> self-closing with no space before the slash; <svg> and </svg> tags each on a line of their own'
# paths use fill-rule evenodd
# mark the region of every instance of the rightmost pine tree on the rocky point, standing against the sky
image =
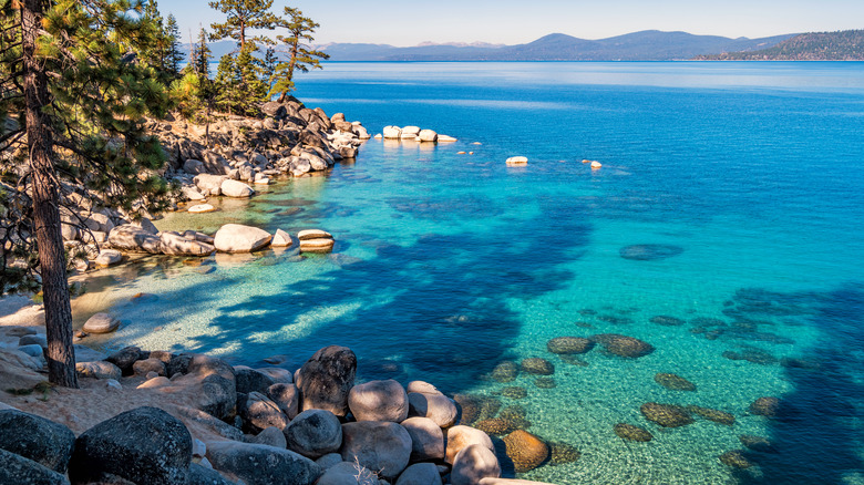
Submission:
<svg viewBox="0 0 864 485">
<path fill-rule="evenodd" d="M 277 39 L 288 45 L 288 62 L 282 62 L 276 66 L 274 78 L 276 83 L 270 90 L 271 94 L 279 93 L 279 102 L 284 102 L 294 90 L 295 71 L 309 72 L 310 69 L 321 69 L 320 60 L 330 56 L 321 51 L 313 50 L 309 42 L 312 42 L 312 33 L 319 25 L 312 19 L 304 17 L 299 9 L 286 7 L 286 19 L 279 21 L 278 27 L 288 29 L 288 35 L 279 35 Z"/>
</svg>

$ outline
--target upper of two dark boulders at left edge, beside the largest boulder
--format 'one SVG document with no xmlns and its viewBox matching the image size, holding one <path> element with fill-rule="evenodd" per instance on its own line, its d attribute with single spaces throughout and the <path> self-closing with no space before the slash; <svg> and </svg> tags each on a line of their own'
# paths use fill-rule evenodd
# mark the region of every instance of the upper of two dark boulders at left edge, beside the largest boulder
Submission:
<svg viewBox="0 0 864 485">
<path fill-rule="evenodd" d="M 74 444 L 75 435 L 62 424 L 18 410 L 0 411 L 0 450 L 66 473 Z"/>
</svg>

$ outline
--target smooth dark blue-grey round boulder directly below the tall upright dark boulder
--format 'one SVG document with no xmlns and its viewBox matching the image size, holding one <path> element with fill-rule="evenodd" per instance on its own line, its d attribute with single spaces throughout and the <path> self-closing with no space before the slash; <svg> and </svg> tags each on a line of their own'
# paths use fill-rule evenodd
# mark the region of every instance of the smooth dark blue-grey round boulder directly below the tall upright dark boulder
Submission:
<svg viewBox="0 0 864 485">
<path fill-rule="evenodd" d="M 284 430 L 288 450 L 309 458 L 319 458 L 339 451 L 342 427 L 329 411 L 307 410 L 298 414 Z"/>
</svg>

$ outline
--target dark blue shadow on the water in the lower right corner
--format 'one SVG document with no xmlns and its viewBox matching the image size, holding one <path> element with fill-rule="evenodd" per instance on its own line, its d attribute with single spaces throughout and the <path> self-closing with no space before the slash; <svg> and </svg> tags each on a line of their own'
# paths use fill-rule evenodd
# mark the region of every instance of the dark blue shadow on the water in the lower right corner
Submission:
<svg viewBox="0 0 864 485">
<path fill-rule="evenodd" d="M 770 453 L 749 451 L 762 474 L 742 484 L 839 484 L 864 473 L 864 285 L 801 293 L 817 309 L 811 324 L 823 338 L 803 359 L 788 362 L 792 393 L 771 421 Z M 854 478 L 851 475 L 855 475 Z"/>
</svg>

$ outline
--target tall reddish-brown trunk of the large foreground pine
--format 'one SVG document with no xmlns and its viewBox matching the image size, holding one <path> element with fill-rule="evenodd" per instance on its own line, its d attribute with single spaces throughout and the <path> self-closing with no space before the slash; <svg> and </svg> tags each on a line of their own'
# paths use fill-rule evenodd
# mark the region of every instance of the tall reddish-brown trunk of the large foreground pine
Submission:
<svg viewBox="0 0 864 485">
<path fill-rule="evenodd" d="M 35 58 L 42 21 L 42 0 L 21 2 L 27 143 L 33 180 L 33 223 L 39 246 L 48 337 L 48 380 L 78 388 L 72 345 L 72 309 L 69 302 L 63 236 L 60 230 L 60 194 L 54 172 L 54 137 L 42 109 L 50 103 L 48 75 Z"/>
</svg>

